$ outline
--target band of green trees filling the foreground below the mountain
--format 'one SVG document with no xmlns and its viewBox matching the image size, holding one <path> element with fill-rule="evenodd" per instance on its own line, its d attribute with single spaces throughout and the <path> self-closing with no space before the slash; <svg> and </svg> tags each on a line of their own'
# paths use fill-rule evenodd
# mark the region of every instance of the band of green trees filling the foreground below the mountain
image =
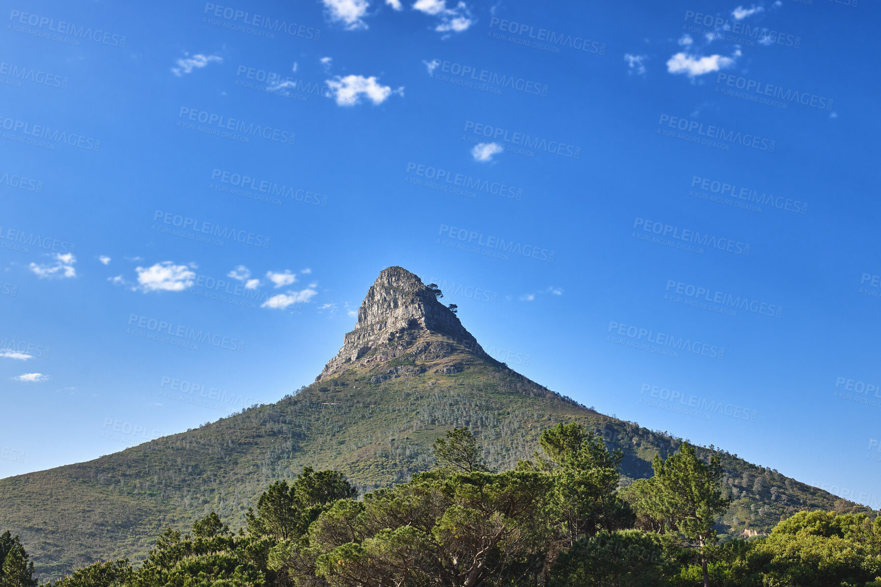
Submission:
<svg viewBox="0 0 881 587">
<path fill-rule="evenodd" d="M 53 587 L 881 587 L 877 512 L 801 510 L 768 536 L 718 533 L 731 507 L 718 455 L 690 444 L 621 487 L 621 451 L 578 423 L 544 429 L 496 472 L 470 429 L 433 468 L 360 499 L 338 471 L 272 483 L 230 530 L 216 512 L 169 528 L 146 560 L 100 561 Z M 0 586 L 36 585 L 0 536 Z"/>
</svg>

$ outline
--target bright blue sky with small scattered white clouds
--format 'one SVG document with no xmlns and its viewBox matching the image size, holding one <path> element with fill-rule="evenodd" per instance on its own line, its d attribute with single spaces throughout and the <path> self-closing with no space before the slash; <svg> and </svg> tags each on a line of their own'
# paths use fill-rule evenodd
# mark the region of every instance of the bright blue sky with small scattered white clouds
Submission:
<svg viewBox="0 0 881 587">
<path fill-rule="evenodd" d="M 8 4 L 0 476 L 292 393 L 401 265 L 529 378 L 879 507 L 877 6 L 534 4 Z"/>
</svg>

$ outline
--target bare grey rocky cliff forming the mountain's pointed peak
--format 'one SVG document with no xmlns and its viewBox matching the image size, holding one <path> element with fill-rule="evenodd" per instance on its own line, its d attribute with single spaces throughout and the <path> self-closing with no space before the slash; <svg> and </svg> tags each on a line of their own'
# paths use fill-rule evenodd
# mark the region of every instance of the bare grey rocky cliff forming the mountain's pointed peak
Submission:
<svg viewBox="0 0 881 587">
<path fill-rule="evenodd" d="M 440 334 L 457 350 L 486 356 L 455 313 L 417 275 L 401 267 L 383 269 L 367 290 L 355 329 L 345 335 L 343 348 L 315 381 L 352 365 L 368 366 L 404 353 L 438 358 L 452 352 L 448 342 L 427 341 L 426 334 Z"/>
</svg>

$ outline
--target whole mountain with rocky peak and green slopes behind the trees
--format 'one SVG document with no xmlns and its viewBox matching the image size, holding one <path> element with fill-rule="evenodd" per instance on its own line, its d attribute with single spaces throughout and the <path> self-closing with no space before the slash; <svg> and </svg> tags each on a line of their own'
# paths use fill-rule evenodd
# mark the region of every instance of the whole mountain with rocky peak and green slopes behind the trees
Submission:
<svg viewBox="0 0 881 587">
<path fill-rule="evenodd" d="M 143 559 L 167 527 L 189 529 L 212 510 L 233 528 L 271 482 L 303 466 L 335 468 L 361 491 L 409 481 L 433 465 L 431 444 L 468 426 L 490 466 L 537 450 L 541 430 L 581 422 L 624 451 L 622 484 L 682 440 L 598 414 L 485 353 L 454 311 L 409 271 L 383 270 L 358 324 L 315 383 L 275 404 L 85 463 L 0 480 L 0 531 L 21 535 L 41 579 L 96 560 Z M 750 536 L 797 510 L 855 503 L 726 451 L 734 503 L 721 530 Z"/>
</svg>

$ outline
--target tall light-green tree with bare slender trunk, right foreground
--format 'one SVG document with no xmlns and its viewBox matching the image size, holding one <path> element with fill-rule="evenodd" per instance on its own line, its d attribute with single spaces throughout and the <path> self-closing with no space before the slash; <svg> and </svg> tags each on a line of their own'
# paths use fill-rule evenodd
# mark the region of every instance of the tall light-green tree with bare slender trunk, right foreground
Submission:
<svg viewBox="0 0 881 587">
<path fill-rule="evenodd" d="M 720 490 L 719 456 L 707 464 L 684 443 L 665 461 L 655 455 L 652 468 L 655 476 L 634 482 L 627 495 L 635 498 L 637 512 L 651 518 L 676 546 L 697 550 L 704 587 L 709 587 L 707 561 L 716 543 L 713 526 L 730 504 Z"/>
</svg>

